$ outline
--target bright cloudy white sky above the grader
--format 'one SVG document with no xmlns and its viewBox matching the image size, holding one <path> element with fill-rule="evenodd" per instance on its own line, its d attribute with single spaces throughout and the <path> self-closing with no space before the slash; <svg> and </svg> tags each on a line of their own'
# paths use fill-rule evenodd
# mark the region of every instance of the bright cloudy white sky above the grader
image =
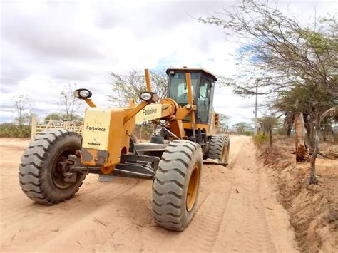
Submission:
<svg viewBox="0 0 338 253">
<path fill-rule="evenodd" d="M 197 20 L 235 2 L 1 1 L 0 123 L 14 120 L 15 95 L 28 95 L 40 118 L 59 111 L 57 97 L 68 83 L 90 89 L 98 106 L 109 106 L 111 71 L 188 66 L 240 75 L 237 38 Z M 278 3 L 304 19 L 313 15 L 314 5 L 319 14 L 337 11 L 335 1 Z M 230 116 L 230 125 L 252 123 L 255 99 L 216 83 L 214 108 Z"/>
</svg>

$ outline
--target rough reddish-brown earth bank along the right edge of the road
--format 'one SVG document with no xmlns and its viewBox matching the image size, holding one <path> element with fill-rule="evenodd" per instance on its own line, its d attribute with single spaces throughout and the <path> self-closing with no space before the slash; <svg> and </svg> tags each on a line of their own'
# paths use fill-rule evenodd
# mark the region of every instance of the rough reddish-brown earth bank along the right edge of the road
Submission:
<svg viewBox="0 0 338 253">
<path fill-rule="evenodd" d="M 276 182 L 277 197 L 290 215 L 302 252 L 338 252 L 338 160 L 319 155 L 319 183 L 309 185 L 309 162 L 296 165 L 295 139 L 275 136 L 271 147 L 259 148 L 265 172 Z M 337 153 L 338 143 L 320 143 L 320 152 Z"/>
</svg>

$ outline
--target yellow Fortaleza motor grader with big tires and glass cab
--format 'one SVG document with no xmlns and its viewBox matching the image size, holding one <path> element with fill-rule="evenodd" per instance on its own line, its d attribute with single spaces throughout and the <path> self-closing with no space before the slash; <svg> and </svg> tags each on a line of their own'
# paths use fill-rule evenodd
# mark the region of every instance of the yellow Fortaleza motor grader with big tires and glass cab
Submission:
<svg viewBox="0 0 338 253">
<path fill-rule="evenodd" d="M 228 135 L 216 135 L 219 116 L 212 108 L 217 78 L 198 68 L 169 68 L 167 98 L 150 90 L 140 104 L 100 108 L 91 91 L 78 89 L 84 100 L 83 135 L 66 129 L 37 135 L 19 166 L 24 193 L 40 204 L 68 200 L 88 173 L 153 180 L 153 219 L 165 229 L 182 231 L 193 218 L 198 202 L 203 159 L 227 165 Z M 150 121 L 155 131 L 149 143 L 133 138 L 135 124 Z M 108 194 L 108 193 L 107 193 Z"/>
</svg>

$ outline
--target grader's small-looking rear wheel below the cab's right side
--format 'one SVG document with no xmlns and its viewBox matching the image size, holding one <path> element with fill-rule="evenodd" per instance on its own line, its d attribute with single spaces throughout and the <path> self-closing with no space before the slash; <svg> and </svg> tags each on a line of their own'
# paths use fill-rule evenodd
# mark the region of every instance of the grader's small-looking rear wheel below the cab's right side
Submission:
<svg viewBox="0 0 338 253">
<path fill-rule="evenodd" d="M 214 135 L 211 137 L 208 158 L 229 163 L 230 139 L 229 135 Z"/>
</svg>

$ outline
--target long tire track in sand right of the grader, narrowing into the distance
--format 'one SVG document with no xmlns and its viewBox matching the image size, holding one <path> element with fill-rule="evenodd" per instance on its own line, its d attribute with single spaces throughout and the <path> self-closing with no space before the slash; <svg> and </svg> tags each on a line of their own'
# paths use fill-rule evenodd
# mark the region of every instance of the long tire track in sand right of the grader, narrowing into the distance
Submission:
<svg viewBox="0 0 338 253">
<path fill-rule="evenodd" d="M 260 197 L 255 146 L 247 139 L 232 166 L 232 192 L 212 251 L 277 252 Z"/>
</svg>

